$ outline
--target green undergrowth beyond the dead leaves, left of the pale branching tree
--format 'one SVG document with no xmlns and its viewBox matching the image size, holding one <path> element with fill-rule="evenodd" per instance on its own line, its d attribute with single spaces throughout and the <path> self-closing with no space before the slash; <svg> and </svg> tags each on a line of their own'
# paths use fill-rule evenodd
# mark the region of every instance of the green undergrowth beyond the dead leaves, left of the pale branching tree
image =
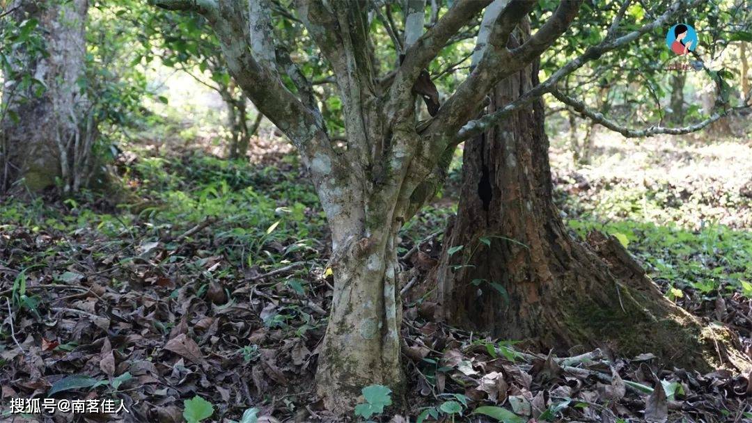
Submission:
<svg viewBox="0 0 752 423">
<path fill-rule="evenodd" d="M 0 228 L 93 230 L 107 242 L 146 246 L 213 219 L 206 248 L 248 267 L 318 258 L 326 248 L 323 212 L 294 159 L 259 166 L 187 154 L 121 167 L 125 194 L 117 199 L 93 192 L 56 202 L 11 198 L 0 203 Z"/>
</svg>

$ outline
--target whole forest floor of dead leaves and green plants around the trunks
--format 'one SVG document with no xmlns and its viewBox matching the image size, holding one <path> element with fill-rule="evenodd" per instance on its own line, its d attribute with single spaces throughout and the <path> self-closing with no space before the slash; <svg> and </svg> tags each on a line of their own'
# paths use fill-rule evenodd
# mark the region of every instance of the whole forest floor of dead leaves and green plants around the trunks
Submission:
<svg viewBox="0 0 752 423">
<path fill-rule="evenodd" d="M 332 295 L 325 219 L 297 159 L 267 144 L 251 163 L 133 147 L 117 194 L 0 204 L 0 421 L 333 421 L 313 391 Z M 672 301 L 733 328 L 752 358 L 752 144 L 596 147 L 587 167 L 552 149 L 573 236 L 617 237 Z M 435 263 L 458 178 L 405 226 L 402 253 L 420 247 L 405 267 Z M 407 404 L 391 398 L 371 421 L 752 421 L 752 375 L 649 352 L 520 351 L 432 322 L 431 307 L 406 292 Z M 114 398 L 128 412 L 11 415 L 15 397 Z"/>
</svg>

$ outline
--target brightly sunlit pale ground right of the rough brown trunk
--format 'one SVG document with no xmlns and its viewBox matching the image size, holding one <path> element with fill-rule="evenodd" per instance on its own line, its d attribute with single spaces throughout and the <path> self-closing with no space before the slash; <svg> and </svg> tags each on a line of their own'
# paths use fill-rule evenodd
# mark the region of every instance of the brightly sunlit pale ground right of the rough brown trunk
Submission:
<svg viewBox="0 0 752 423">
<path fill-rule="evenodd" d="M 752 141 L 707 137 L 635 140 L 601 131 L 593 165 L 572 165 L 566 147 L 554 147 L 552 168 L 559 186 L 602 219 L 752 228 Z"/>
</svg>

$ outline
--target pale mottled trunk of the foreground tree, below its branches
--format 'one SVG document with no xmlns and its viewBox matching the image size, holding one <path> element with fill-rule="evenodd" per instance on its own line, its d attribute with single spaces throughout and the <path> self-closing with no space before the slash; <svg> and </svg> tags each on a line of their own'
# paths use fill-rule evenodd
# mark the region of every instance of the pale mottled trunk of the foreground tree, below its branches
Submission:
<svg viewBox="0 0 752 423">
<path fill-rule="evenodd" d="M 371 115 L 375 116 L 375 115 Z M 383 122 L 383 119 L 381 120 Z M 377 136 L 381 125 L 369 135 Z M 392 133 L 414 131 L 392 128 Z M 392 139 L 399 145 L 399 135 Z M 329 163 L 311 164 L 314 171 L 326 170 Z M 323 168 L 323 169 L 322 169 Z M 359 180 L 350 175 L 340 186 L 320 185 L 323 201 L 341 198 L 348 213 L 326 210 L 332 228 L 334 296 L 329 325 L 320 346 L 317 367 L 317 392 L 327 409 L 344 412 L 352 409 L 362 388 L 381 384 L 402 394 L 399 328 L 402 282 L 397 262 L 397 234 L 408 213 L 408 202 L 400 201 L 400 186 L 378 183 L 378 179 Z M 405 186 L 402 186 L 405 189 Z M 334 206 L 335 209 L 342 206 Z M 326 208 L 326 207 L 325 207 Z"/>
</svg>

